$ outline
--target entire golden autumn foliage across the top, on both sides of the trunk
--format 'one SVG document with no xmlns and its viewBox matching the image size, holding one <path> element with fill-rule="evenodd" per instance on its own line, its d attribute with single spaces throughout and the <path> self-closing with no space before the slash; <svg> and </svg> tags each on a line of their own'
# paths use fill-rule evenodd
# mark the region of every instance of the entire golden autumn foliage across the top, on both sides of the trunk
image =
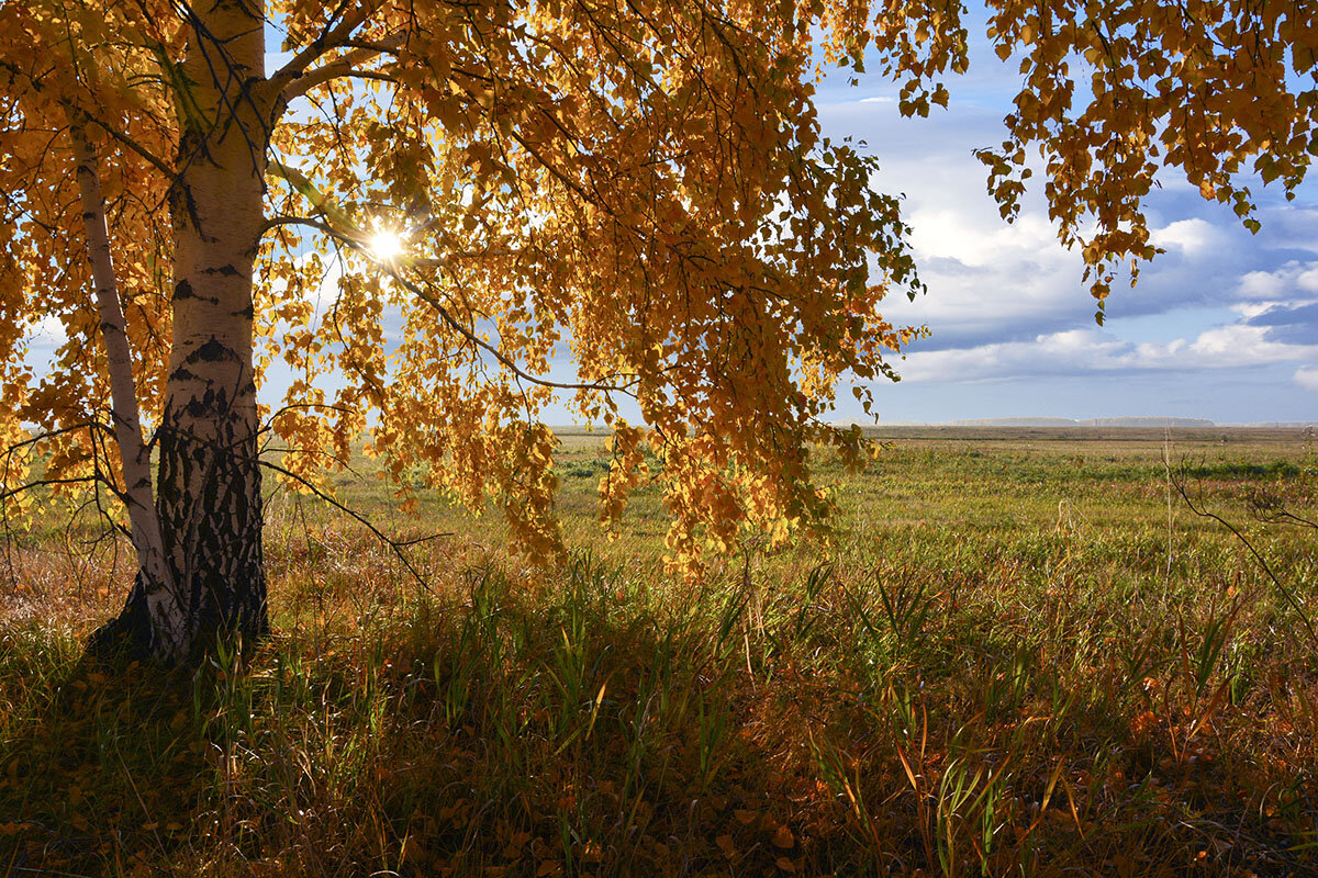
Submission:
<svg viewBox="0 0 1318 878">
<path fill-rule="evenodd" d="M 1290 194 L 1318 153 L 1310 3 L 988 7 L 1023 76 L 1006 140 L 981 153 L 990 192 L 1012 219 L 1041 155 L 1101 307 L 1123 262 L 1155 254 L 1141 205 L 1160 168 L 1256 229 L 1251 174 Z M 158 423 L 179 120 L 235 118 L 190 101 L 191 13 L 0 7 L 0 394 L 9 438 L 37 425 L 57 478 L 115 473 L 69 125 L 90 120 Z M 920 329 L 879 305 L 921 287 L 898 200 L 870 188 L 874 159 L 820 133 L 816 61 L 876 65 L 902 83 L 903 113 L 927 115 L 970 63 L 960 3 L 275 0 L 265 14 L 285 54 L 258 84 L 281 100 L 254 332 L 258 370 L 295 374 L 268 413 L 290 473 L 315 480 L 373 424 L 405 494 L 420 480 L 493 499 L 522 548 L 552 555 L 554 437 L 538 415 L 559 395 L 616 430 L 601 519 L 658 480 L 681 569 L 742 528 L 783 540 L 826 517 L 808 449 L 862 457 L 859 430 L 824 419 L 840 382 L 894 376 L 883 357 Z M 37 374 L 25 346 L 54 324 L 67 341 Z M 645 428 L 618 416 L 623 398 Z"/>
</svg>

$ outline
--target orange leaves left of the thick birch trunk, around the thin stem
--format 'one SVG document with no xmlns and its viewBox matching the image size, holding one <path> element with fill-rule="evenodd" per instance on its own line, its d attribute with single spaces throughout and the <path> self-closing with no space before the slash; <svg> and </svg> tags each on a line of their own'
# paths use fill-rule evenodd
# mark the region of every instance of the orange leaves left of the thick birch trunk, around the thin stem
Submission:
<svg viewBox="0 0 1318 878">
<path fill-rule="evenodd" d="M 101 180 L 113 258 L 140 404 L 148 417 L 159 411 L 170 333 L 169 180 L 148 155 L 174 149 L 162 88 L 169 74 L 156 66 L 177 49 L 174 18 L 152 3 L 133 11 L 40 1 L 0 8 L 0 420 L 11 438 L 20 423 L 53 433 L 41 449 L 46 478 L 79 478 L 94 459 L 119 478 L 117 455 L 105 454 L 108 434 L 88 430 L 109 423 L 109 394 L 76 232 L 83 221 L 67 126 L 79 115 L 99 120 L 95 149 L 115 154 Z M 54 345 L 46 375 L 25 354 L 37 333 Z"/>
</svg>

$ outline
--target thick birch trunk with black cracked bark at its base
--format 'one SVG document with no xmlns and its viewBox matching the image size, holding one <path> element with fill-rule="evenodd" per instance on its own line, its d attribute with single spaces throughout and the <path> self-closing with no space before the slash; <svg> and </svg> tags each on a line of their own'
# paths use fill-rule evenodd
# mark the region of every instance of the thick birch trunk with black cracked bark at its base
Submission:
<svg viewBox="0 0 1318 878">
<path fill-rule="evenodd" d="M 178 600 L 140 577 L 104 637 L 169 661 L 268 631 L 252 359 L 269 111 L 260 0 L 200 0 L 178 99 L 174 336 L 161 419 L 157 512 Z M 150 611 L 150 612 L 149 612 Z M 100 636 L 100 634 L 98 634 Z"/>
</svg>

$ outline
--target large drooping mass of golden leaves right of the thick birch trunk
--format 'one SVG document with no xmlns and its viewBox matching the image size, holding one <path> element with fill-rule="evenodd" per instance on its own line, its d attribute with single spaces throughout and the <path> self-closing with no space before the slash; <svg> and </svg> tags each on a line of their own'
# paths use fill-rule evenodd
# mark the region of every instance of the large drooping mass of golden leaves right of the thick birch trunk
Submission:
<svg viewBox="0 0 1318 878">
<path fill-rule="evenodd" d="M 407 229 L 384 312 L 355 316 L 340 286 L 318 349 L 381 409 L 373 448 L 405 492 L 419 479 L 476 508 L 493 499 L 523 548 L 555 554 L 552 445 L 535 423 L 556 394 L 619 430 L 601 519 L 654 480 L 683 569 L 743 528 L 783 540 L 826 512 L 805 449 L 858 441 L 821 417 L 837 380 L 882 374 L 915 332 L 876 305 L 916 282 L 873 162 L 820 140 L 809 14 L 386 9 L 372 38 L 407 34 L 372 67 L 387 83 L 327 82 L 316 112 L 285 121 L 279 151 L 316 157 L 301 172 L 335 211 Z M 298 187 L 274 197 L 278 213 L 327 216 Z M 384 274 L 369 245 L 344 259 Z M 381 320 L 398 338 L 364 344 Z M 390 348 L 382 369 L 345 355 L 374 345 Z M 575 376 L 552 379 L 567 386 L 536 383 L 564 355 Z M 617 420 L 627 396 L 648 433 Z"/>
</svg>

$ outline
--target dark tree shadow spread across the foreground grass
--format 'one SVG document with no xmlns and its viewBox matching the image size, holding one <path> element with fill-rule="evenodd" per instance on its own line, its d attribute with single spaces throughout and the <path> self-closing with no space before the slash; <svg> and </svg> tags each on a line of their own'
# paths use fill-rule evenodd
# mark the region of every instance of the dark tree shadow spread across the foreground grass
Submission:
<svg viewBox="0 0 1318 878">
<path fill-rule="evenodd" d="M 1214 767 L 1230 753 L 1207 732 L 1189 748 L 1174 702 L 1148 710 L 1141 681 L 1178 679 L 1174 644 L 1140 636 L 1166 656 L 1102 671 L 1099 653 L 1064 652 L 1101 641 L 1064 633 L 1102 621 L 1075 595 L 1053 604 L 1074 619 L 1040 628 L 912 570 L 878 594 L 812 575 L 776 598 L 659 590 L 584 558 L 523 582 L 484 571 L 356 627 L 286 625 L 245 666 L 220 650 L 195 671 L 109 675 L 38 629 L 7 634 L 0 865 L 547 878 L 1313 864 L 1242 806 L 1246 761 Z M 1169 763 L 1173 735 L 1186 746 Z M 1307 825 L 1310 778 L 1290 778 L 1298 811 L 1269 820 Z"/>
</svg>

